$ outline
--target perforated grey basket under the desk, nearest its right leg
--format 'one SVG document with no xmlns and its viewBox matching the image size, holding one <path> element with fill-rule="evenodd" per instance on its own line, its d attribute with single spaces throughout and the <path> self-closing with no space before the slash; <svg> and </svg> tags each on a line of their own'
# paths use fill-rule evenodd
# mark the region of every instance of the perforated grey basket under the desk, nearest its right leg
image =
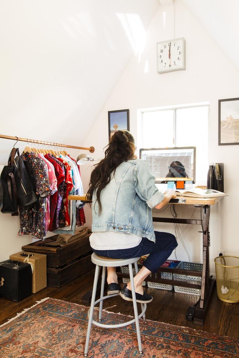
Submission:
<svg viewBox="0 0 239 358">
<path fill-rule="evenodd" d="M 194 262 L 180 262 L 177 269 L 188 270 L 188 271 L 197 271 L 202 272 L 202 263 L 194 263 Z M 181 274 L 173 274 L 173 279 L 177 281 L 191 281 L 195 284 L 201 284 L 202 277 L 200 276 L 191 276 L 191 275 L 181 275 Z M 189 287 L 182 287 L 182 286 L 174 286 L 175 292 L 186 293 L 189 295 L 201 295 L 200 289 L 193 289 Z"/>
</svg>

